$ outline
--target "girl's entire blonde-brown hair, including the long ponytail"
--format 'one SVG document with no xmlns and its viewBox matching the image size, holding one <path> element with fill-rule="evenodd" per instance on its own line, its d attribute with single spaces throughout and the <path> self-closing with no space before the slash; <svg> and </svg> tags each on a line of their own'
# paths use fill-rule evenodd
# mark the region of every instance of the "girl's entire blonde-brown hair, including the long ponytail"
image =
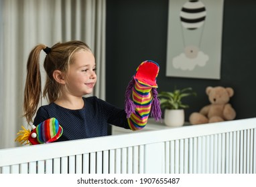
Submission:
<svg viewBox="0 0 256 187">
<path fill-rule="evenodd" d="M 27 78 L 23 100 L 23 116 L 28 123 L 33 122 L 32 118 L 36 114 L 42 95 L 40 73 L 40 52 L 42 50 L 47 53 L 44 59 L 44 69 L 46 70 L 47 76 L 43 97 L 46 97 L 48 102 L 52 103 L 61 94 L 60 84 L 55 81 L 53 72 L 58 69 L 66 73 L 70 63 L 72 63 L 74 53 L 81 50 L 90 51 L 90 47 L 82 41 L 68 41 L 66 43 L 56 43 L 51 48 L 40 44 L 32 49 L 27 59 Z"/>
</svg>

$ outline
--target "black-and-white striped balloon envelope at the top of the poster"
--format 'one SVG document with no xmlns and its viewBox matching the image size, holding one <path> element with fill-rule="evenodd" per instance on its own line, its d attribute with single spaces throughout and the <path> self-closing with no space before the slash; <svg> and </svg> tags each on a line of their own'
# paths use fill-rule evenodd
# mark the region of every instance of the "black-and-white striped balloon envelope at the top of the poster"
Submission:
<svg viewBox="0 0 256 187">
<path fill-rule="evenodd" d="M 201 1 L 187 1 L 180 11 L 180 20 L 186 29 L 198 29 L 204 24 L 206 8 Z"/>
</svg>

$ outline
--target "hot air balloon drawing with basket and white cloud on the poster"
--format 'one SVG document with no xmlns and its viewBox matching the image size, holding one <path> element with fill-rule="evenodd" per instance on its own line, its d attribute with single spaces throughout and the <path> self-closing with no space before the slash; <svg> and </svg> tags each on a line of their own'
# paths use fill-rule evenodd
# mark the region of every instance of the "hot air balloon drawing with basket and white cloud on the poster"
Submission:
<svg viewBox="0 0 256 187">
<path fill-rule="evenodd" d="M 180 23 L 182 31 L 184 51 L 172 59 L 174 68 L 192 71 L 196 65 L 203 67 L 208 61 L 208 55 L 200 50 L 204 22 L 206 19 L 206 7 L 201 1 L 189 0 L 180 10 Z"/>
</svg>

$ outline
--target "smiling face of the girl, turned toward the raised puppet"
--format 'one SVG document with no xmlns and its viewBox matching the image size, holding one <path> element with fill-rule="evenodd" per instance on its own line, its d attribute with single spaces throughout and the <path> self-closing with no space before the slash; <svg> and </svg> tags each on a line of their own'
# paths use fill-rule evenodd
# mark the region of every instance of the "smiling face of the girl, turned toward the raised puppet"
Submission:
<svg viewBox="0 0 256 187">
<path fill-rule="evenodd" d="M 78 51 L 66 75 L 66 87 L 72 96 L 92 93 L 97 81 L 94 55 L 90 51 Z"/>
</svg>

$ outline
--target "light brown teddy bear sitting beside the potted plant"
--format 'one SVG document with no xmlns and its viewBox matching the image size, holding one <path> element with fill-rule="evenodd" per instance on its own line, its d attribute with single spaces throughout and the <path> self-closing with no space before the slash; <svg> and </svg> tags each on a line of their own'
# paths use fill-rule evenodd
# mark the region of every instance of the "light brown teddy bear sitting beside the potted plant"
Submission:
<svg viewBox="0 0 256 187">
<path fill-rule="evenodd" d="M 204 106 L 200 112 L 190 114 L 190 124 L 207 124 L 235 119 L 236 112 L 229 104 L 230 98 L 234 96 L 233 88 L 208 86 L 206 87 L 206 94 L 210 104 Z"/>
</svg>

